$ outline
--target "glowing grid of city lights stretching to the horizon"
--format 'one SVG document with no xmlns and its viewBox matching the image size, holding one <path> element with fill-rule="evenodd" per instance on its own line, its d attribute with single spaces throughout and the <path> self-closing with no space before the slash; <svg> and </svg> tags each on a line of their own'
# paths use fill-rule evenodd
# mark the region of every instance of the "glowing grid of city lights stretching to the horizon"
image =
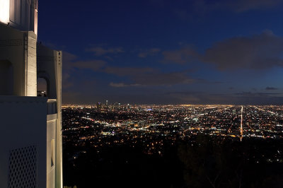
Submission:
<svg viewBox="0 0 283 188">
<path fill-rule="evenodd" d="M 254 105 L 64 105 L 63 139 L 83 146 L 144 143 L 161 153 L 163 141 L 190 140 L 197 134 L 242 141 L 282 139 L 283 107 Z M 146 143 L 146 144 L 145 144 Z"/>
</svg>

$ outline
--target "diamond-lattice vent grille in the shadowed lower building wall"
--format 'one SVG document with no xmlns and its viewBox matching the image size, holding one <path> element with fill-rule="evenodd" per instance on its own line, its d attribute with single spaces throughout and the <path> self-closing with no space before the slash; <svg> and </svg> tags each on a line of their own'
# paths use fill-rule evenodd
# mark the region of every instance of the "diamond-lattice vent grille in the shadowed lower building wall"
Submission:
<svg viewBox="0 0 283 188">
<path fill-rule="evenodd" d="M 37 187 L 36 146 L 17 148 L 10 151 L 9 187 Z"/>
</svg>

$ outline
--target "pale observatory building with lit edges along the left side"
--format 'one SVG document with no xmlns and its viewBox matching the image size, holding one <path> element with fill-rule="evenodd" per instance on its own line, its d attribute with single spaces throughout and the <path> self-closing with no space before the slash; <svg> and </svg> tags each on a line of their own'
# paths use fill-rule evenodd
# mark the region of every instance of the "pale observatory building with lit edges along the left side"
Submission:
<svg viewBox="0 0 283 188">
<path fill-rule="evenodd" d="M 62 187 L 62 52 L 37 43 L 37 10 L 0 0 L 0 187 Z"/>
</svg>

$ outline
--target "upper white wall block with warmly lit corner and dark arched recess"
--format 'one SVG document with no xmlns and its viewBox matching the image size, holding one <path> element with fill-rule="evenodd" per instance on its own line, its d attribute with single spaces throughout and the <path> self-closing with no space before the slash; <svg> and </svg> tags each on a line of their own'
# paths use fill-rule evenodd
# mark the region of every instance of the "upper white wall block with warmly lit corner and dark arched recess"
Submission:
<svg viewBox="0 0 283 188">
<path fill-rule="evenodd" d="M 37 95 L 36 41 L 35 33 L 0 23 L 0 61 L 13 65 L 13 95 Z"/>
</svg>

